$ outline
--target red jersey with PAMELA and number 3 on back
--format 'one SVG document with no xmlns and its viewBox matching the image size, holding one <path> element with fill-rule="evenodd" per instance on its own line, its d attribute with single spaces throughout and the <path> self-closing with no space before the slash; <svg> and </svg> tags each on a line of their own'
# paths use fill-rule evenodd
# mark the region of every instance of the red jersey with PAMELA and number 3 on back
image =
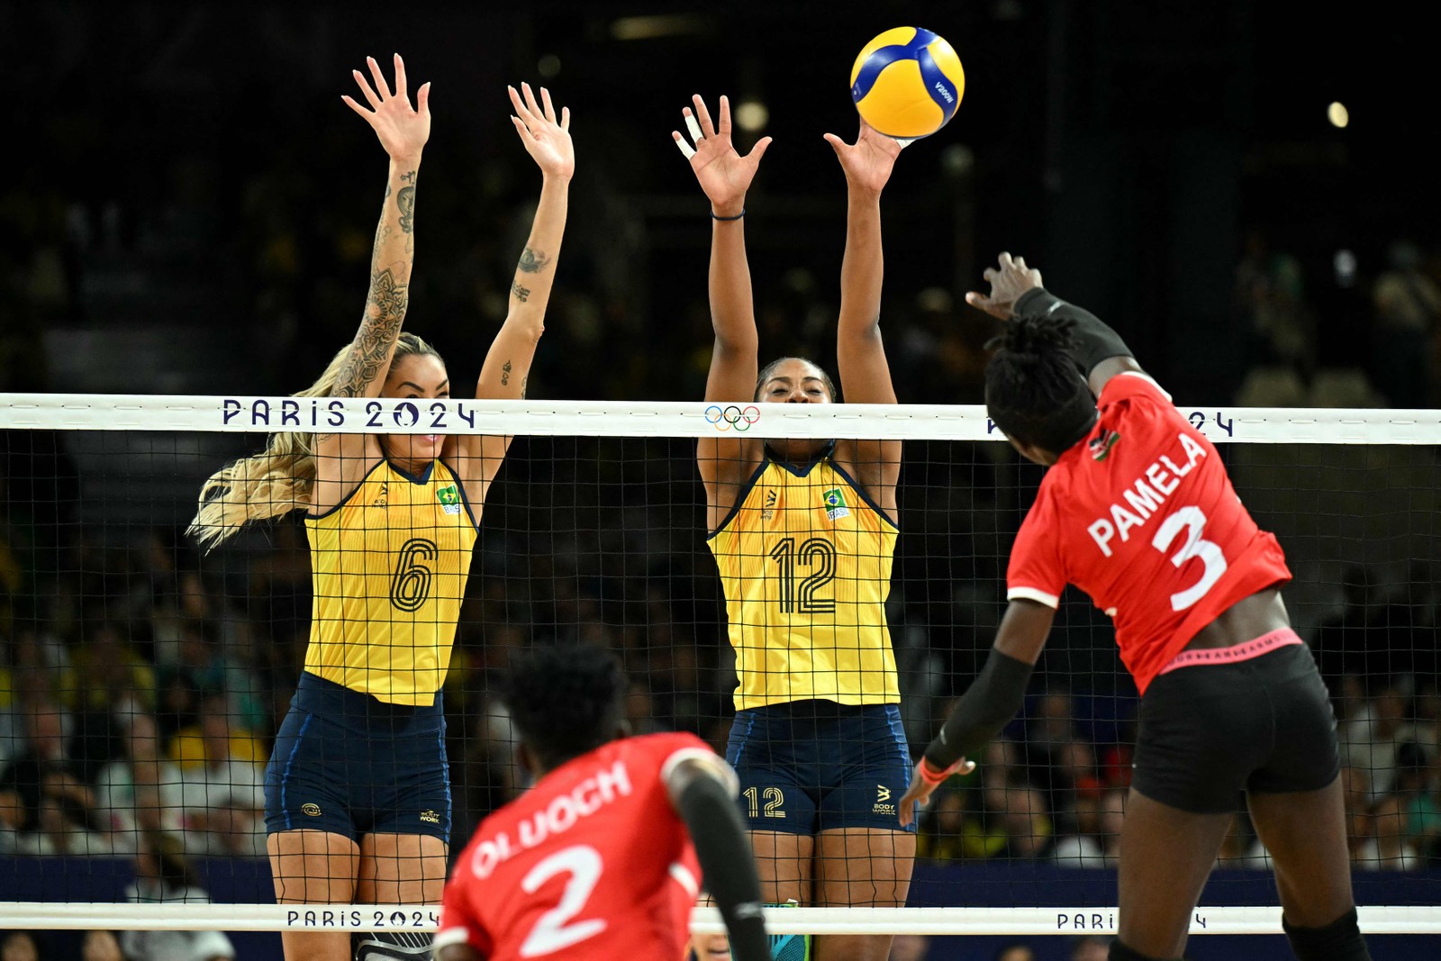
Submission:
<svg viewBox="0 0 1441 961">
<path fill-rule="evenodd" d="M 1049 607 L 1074 584 L 1115 622 L 1146 687 L 1203 627 L 1291 572 L 1236 497 L 1216 448 L 1141 373 L 1111 377 L 1085 442 L 1040 481 L 1006 596 Z"/>
</svg>

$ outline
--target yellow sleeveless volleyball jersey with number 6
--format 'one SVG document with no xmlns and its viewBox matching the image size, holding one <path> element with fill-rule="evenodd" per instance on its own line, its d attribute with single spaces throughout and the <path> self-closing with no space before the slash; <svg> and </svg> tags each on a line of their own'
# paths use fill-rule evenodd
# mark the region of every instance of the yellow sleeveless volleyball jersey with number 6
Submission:
<svg viewBox="0 0 1441 961">
<path fill-rule="evenodd" d="M 477 533 L 460 478 L 441 461 L 419 477 L 380 461 L 305 530 L 305 670 L 392 705 L 435 703 Z"/>
</svg>

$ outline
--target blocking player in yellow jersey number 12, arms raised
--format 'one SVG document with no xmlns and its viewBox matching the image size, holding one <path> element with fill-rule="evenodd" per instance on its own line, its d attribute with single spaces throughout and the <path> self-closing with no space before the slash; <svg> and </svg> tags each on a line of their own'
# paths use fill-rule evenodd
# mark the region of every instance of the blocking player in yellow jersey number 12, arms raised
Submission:
<svg viewBox="0 0 1441 961">
<path fill-rule="evenodd" d="M 695 147 L 673 137 L 710 200 L 706 382 L 716 434 L 699 442 L 710 549 L 726 596 L 739 689 L 728 761 L 768 885 L 767 900 L 904 905 L 915 834 L 899 830 L 909 784 L 895 656 L 886 627 L 901 444 L 761 441 L 739 428 L 759 403 L 831 403 L 824 370 L 782 357 L 757 370 L 745 259 L 745 193 L 771 138 L 741 157 L 731 107 L 719 125 L 693 98 Z M 849 207 L 836 356 L 849 401 L 895 403 L 880 343 L 880 190 L 901 144 L 862 124 L 855 144 L 826 134 Z M 888 937 L 829 937 L 821 958 L 883 961 Z M 791 945 L 777 945 L 790 957 Z"/>
</svg>

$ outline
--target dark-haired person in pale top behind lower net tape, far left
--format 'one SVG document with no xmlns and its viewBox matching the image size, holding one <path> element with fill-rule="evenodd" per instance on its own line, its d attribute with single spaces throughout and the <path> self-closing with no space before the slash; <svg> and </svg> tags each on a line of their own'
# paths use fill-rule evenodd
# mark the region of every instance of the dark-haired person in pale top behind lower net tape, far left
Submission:
<svg viewBox="0 0 1441 961">
<path fill-rule="evenodd" d="M 179 841 L 147 831 L 135 853 L 135 882 L 125 889 L 135 905 L 210 903 L 190 875 Z M 222 961 L 235 947 L 220 931 L 125 931 L 120 937 L 127 961 Z"/>
</svg>

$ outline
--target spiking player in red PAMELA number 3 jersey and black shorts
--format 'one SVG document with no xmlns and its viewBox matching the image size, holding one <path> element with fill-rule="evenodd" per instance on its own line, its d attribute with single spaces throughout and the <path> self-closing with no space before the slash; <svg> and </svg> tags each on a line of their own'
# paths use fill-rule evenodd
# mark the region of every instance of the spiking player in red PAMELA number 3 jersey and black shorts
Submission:
<svg viewBox="0 0 1441 961">
<path fill-rule="evenodd" d="M 996 645 L 906 795 L 941 781 L 1010 723 L 1074 584 L 1115 621 L 1141 690 L 1121 830 L 1111 958 L 1179 958 L 1239 794 L 1275 863 L 1282 926 L 1303 961 L 1370 958 L 1356 925 L 1336 719 L 1280 588 L 1275 537 L 1246 513 L 1216 448 L 1176 412 L 1114 330 L 1000 255 L 989 297 L 1009 320 L 986 406 L 1023 457 L 1049 467 L 1007 572 Z"/>
</svg>

